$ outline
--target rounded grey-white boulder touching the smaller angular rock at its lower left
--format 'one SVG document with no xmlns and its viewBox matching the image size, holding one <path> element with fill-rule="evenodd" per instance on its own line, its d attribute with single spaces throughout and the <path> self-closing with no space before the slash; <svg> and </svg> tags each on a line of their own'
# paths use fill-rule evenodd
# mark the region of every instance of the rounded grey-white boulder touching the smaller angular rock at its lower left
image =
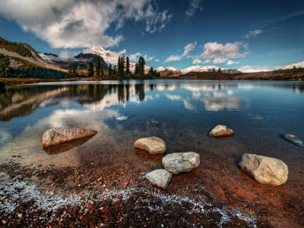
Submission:
<svg viewBox="0 0 304 228">
<path fill-rule="evenodd" d="M 173 174 L 190 172 L 200 165 L 200 155 L 194 152 L 173 153 L 163 158 L 163 166 Z"/>
</svg>

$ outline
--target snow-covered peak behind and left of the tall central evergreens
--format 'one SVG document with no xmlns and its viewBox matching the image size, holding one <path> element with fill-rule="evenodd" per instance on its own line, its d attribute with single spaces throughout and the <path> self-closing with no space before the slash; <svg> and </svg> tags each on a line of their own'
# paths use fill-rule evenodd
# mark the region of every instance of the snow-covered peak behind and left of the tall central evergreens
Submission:
<svg viewBox="0 0 304 228">
<path fill-rule="evenodd" d="M 110 50 L 106 51 L 100 46 L 95 46 L 95 47 L 91 48 L 87 53 L 92 53 L 92 54 L 101 56 L 107 64 L 111 63 L 112 67 L 114 67 L 115 65 L 118 65 L 119 54 L 113 53 Z M 148 67 L 146 65 L 144 66 L 145 73 L 148 73 L 149 69 L 150 69 L 150 67 Z M 130 70 L 132 72 L 135 71 L 135 63 L 130 62 Z"/>
</svg>

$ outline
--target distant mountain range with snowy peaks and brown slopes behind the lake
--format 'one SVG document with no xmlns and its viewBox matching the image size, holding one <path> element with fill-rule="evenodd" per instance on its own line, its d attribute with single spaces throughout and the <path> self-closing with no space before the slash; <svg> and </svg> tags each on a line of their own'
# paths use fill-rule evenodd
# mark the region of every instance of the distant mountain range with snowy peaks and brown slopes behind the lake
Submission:
<svg viewBox="0 0 304 228">
<path fill-rule="evenodd" d="M 44 68 L 56 69 L 66 71 L 69 63 L 77 65 L 78 69 L 86 69 L 90 62 L 96 65 L 97 57 L 101 58 L 101 65 L 107 68 L 109 64 L 118 65 L 119 53 L 111 52 L 110 50 L 104 50 L 102 47 L 93 47 L 86 53 L 80 53 L 77 56 L 70 58 L 61 58 L 51 53 L 39 53 L 36 52 L 31 46 L 18 42 L 10 42 L 0 37 L 0 54 L 10 56 L 10 66 L 13 68 L 24 68 L 27 66 L 40 66 Z M 304 68 L 304 61 L 293 63 L 282 67 L 282 69 L 291 69 L 293 67 Z M 149 66 L 145 66 L 145 73 L 148 73 Z M 212 72 L 213 69 L 218 71 L 218 66 L 215 65 L 196 65 L 190 66 L 185 69 L 176 69 L 174 67 L 157 67 L 156 70 L 161 73 L 162 77 L 172 77 L 188 72 Z M 130 62 L 130 70 L 135 71 L 135 63 Z M 223 73 L 241 73 L 237 69 L 221 68 Z M 248 72 L 248 71 L 246 71 Z"/>
</svg>

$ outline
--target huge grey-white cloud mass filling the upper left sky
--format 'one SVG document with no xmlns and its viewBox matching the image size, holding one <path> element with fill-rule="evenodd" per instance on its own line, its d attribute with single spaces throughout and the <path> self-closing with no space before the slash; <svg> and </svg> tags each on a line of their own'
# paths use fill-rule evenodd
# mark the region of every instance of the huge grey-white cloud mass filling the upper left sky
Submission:
<svg viewBox="0 0 304 228">
<path fill-rule="evenodd" d="M 123 36 L 108 35 L 110 25 L 126 20 L 144 21 L 147 32 L 162 30 L 172 18 L 151 0 L 1 1 L 0 15 L 16 21 L 52 48 L 104 48 L 117 46 Z"/>
</svg>

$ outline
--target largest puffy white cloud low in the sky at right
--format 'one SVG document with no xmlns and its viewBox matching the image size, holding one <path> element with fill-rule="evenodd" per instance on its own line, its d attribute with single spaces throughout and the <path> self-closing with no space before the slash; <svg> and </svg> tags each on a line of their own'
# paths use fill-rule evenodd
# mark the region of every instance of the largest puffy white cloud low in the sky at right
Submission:
<svg viewBox="0 0 304 228">
<path fill-rule="evenodd" d="M 243 58 L 250 54 L 250 52 L 240 53 L 240 48 L 244 42 L 227 43 L 225 45 L 214 43 L 207 43 L 204 45 L 202 58 Z"/>
</svg>

